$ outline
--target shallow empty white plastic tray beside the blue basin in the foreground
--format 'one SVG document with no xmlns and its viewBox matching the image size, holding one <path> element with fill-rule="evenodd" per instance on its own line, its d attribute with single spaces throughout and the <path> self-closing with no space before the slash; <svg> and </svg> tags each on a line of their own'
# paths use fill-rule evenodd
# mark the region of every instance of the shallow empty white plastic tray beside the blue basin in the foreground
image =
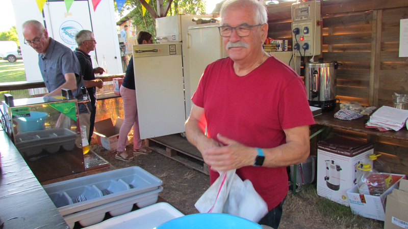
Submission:
<svg viewBox="0 0 408 229">
<path fill-rule="evenodd" d="M 183 213 L 167 203 L 157 203 L 101 223 L 87 229 L 152 229 L 171 219 L 184 216 Z"/>
</svg>

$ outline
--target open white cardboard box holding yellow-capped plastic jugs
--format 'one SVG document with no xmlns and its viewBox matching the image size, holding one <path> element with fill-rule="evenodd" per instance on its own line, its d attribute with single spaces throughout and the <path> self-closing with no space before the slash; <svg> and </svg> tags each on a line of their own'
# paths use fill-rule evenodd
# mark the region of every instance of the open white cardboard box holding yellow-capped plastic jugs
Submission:
<svg viewBox="0 0 408 229">
<path fill-rule="evenodd" d="M 348 201 L 350 203 L 351 212 L 353 214 L 361 215 L 363 217 L 384 221 L 385 198 L 388 194 L 390 194 L 393 191 L 394 188 L 398 187 L 398 184 L 402 179 L 405 179 L 405 175 L 392 174 L 392 179 L 393 181 L 396 182 L 380 196 L 360 194 L 359 187 L 357 185 L 354 185 L 351 189 L 347 190 L 347 196 Z M 406 212 L 404 212 L 404 214 L 407 215 Z"/>
</svg>

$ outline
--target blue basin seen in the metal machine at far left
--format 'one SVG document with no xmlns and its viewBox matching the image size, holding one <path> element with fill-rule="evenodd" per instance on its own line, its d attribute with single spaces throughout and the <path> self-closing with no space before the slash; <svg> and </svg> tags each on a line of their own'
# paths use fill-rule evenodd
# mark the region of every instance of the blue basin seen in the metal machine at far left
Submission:
<svg viewBox="0 0 408 229">
<path fill-rule="evenodd" d="M 18 133 L 45 129 L 45 119 L 48 114 L 44 112 L 30 111 L 30 117 L 13 119 L 16 122 Z"/>
</svg>

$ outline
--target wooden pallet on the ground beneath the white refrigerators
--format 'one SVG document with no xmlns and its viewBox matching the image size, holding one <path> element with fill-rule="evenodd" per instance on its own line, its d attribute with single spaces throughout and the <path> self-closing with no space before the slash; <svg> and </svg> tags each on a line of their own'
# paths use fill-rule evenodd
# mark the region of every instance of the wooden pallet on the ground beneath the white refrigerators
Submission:
<svg viewBox="0 0 408 229">
<path fill-rule="evenodd" d="M 145 144 L 166 157 L 178 161 L 189 168 L 210 175 L 209 167 L 202 159 L 201 153 L 180 134 L 145 139 Z"/>
</svg>

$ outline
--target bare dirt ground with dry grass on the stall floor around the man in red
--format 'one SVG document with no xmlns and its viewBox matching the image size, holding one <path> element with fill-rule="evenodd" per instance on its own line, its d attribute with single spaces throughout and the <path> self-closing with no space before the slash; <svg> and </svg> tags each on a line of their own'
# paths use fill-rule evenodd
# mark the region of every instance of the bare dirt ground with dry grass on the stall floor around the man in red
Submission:
<svg viewBox="0 0 408 229">
<path fill-rule="evenodd" d="M 131 141 L 132 142 L 132 141 Z M 127 147 L 132 153 L 132 146 Z M 91 149 L 110 162 L 115 168 L 140 166 L 148 173 L 163 181 L 163 191 L 159 194 L 173 207 L 183 214 L 194 214 L 197 199 L 209 188 L 210 177 L 184 164 L 174 161 L 155 151 L 139 155 L 132 161 L 125 162 L 115 159 L 113 151 L 107 151 L 101 146 L 92 145 Z M 304 188 L 305 189 L 305 188 Z M 301 190 L 296 195 L 288 193 L 284 204 L 284 213 L 279 229 L 287 228 L 383 228 L 384 222 L 363 218 L 360 216 L 334 216 L 326 214 L 329 210 L 319 211 L 321 201 L 316 190 Z M 335 204 L 335 203 L 334 203 Z M 335 204 L 338 205 L 338 204 Z"/>
</svg>

